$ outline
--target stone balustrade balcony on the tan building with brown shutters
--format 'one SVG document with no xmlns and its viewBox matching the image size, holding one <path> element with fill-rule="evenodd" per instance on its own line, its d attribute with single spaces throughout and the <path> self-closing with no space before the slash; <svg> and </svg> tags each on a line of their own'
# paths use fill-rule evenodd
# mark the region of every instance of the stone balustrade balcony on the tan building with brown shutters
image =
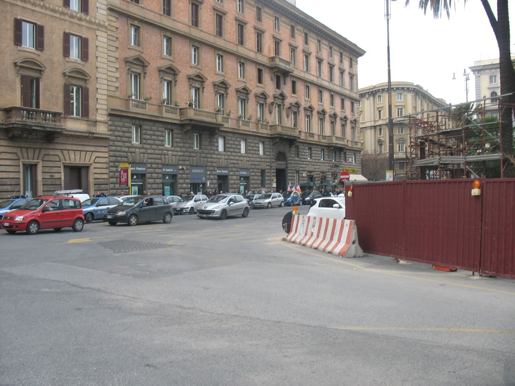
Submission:
<svg viewBox="0 0 515 386">
<path fill-rule="evenodd" d="M 12 106 L 1 109 L 0 121 L 9 139 L 52 142 L 65 130 L 61 125 L 62 112 Z"/>
</svg>

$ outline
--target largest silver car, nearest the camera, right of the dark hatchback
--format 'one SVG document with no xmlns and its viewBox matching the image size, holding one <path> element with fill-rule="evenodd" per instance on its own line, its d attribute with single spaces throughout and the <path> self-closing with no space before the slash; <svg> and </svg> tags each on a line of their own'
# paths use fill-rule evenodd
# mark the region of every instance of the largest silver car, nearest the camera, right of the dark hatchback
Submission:
<svg viewBox="0 0 515 386">
<path fill-rule="evenodd" d="M 229 216 L 249 215 L 249 202 L 242 195 L 224 193 L 211 197 L 198 208 L 199 218 L 219 218 L 225 220 Z"/>
</svg>

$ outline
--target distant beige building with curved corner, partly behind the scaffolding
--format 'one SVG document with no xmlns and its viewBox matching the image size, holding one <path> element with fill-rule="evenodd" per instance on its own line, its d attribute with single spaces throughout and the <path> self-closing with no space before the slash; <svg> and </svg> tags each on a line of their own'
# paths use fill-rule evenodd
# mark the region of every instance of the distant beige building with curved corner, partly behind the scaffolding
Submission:
<svg viewBox="0 0 515 386">
<path fill-rule="evenodd" d="M 359 96 L 363 152 L 388 157 L 388 83 L 363 87 L 359 89 Z M 418 119 L 430 120 L 435 114 L 431 110 L 448 105 L 420 85 L 410 82 L 391 82 L 391 104 L 394 171 L 398 179 L 406 175 L 406 158 L 409 152 L 409 122 L 405 116 L 416 114 Z M 384 179 L 384 176 L 380 178 Z"/>
</svg>

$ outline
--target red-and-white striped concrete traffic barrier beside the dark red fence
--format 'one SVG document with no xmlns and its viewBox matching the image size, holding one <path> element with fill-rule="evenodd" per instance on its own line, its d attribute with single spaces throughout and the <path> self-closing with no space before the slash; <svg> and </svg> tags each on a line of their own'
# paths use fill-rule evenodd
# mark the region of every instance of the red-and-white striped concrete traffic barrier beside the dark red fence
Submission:
<svg viewBox="0 0 515 386">
<path fill-rule="evenodd" d="M 343 257 L 363 257 L 355 220 L 296 215 L 286 240 Z"/>
</svg>

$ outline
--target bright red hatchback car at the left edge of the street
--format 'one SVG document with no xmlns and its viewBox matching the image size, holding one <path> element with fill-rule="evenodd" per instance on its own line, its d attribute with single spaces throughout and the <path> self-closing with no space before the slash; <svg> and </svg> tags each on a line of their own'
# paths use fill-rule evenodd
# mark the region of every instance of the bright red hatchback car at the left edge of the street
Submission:
<svg viewBox="0 0 515 386">
<path fill-rule="evenodd" d="M 9 233 L 26 231 L 35 235 L 40 229 L 60 231 L 69 226 L 75 232 L 82 231 L 84 227 L 82 206 L 75 197 L 36 197 L 20 209 L 6 213 L 2 219 L 2 229 Z"/>
</svg>

